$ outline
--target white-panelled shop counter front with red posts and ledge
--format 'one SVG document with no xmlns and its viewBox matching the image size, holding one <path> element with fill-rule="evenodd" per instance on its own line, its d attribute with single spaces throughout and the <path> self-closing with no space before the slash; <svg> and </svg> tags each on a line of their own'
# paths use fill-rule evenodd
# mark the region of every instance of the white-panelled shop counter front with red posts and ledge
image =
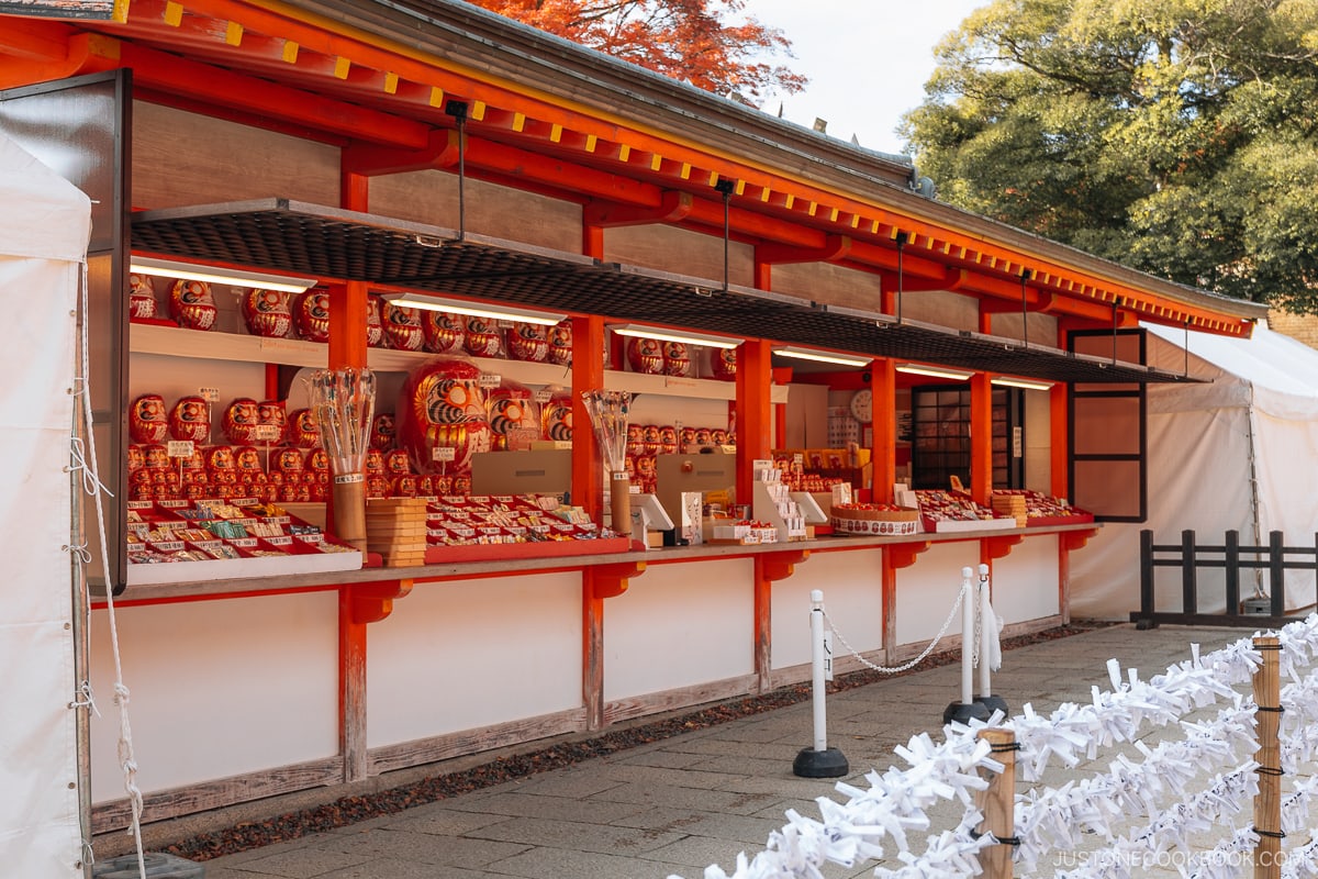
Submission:
<svg viewBox="0 0 1318 879">
<path fill-rule="evenodd" d="M 130 585 L 115 606 L 133 646 L 133 735 L 152 756 L 138 774 L 148 820 L 227 804 L 236 787 L 244 799 L 275 796 L 809 680 L 812 589 L 870 663 L 919 654 L 948 618 L 962 568 L 981 561 L 992 565 L 1007 633 L 1046 629 L 1066 615 L 1066 556 L 1095 531 L 829 536 Z M 105 598 L 95 608 L 104 644 Z M 960 614 L 946 646 L 958 635 Z M 94 685 L 109 692 L 100 659 Z M 834 668 L 861 660 L 840 651 Z M 181 714 L 169 695 L 185 684 L 204 697 Z M 113 735 L 94 735 L 92 749 L 99 766 L 115 766 Z M 206 762 L 192 759 L 198 750 Z M 98 833 L 127 826 L 115 772 L 95 774 L 92 795 Z"/>
</svg>

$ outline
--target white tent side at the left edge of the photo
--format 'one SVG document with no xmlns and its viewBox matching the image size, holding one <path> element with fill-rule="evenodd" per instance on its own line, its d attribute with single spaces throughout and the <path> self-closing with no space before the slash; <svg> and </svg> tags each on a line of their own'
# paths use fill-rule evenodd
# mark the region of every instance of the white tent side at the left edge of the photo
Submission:
<svg viewBox="0 0 1318 879">
<path fill-rule="evenodd" d="M 0 863 L 80 875 L 70 474 L 91 202 L 0 134 Z"/>
</svg>

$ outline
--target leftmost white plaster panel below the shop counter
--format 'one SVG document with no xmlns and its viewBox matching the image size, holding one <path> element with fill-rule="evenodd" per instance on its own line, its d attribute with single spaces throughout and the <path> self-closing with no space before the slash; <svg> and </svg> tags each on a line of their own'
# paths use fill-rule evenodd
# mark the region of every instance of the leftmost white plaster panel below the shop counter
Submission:
<svg viewBox="0 0 1318 879">
<path fill-rule="evenodd" d="M 137 784 L 150 793 L 339 752 L 333 592 L 117 611 Z M 124 796 L 108 613 L 92 614 L 92 800 Z"/>
</svg>

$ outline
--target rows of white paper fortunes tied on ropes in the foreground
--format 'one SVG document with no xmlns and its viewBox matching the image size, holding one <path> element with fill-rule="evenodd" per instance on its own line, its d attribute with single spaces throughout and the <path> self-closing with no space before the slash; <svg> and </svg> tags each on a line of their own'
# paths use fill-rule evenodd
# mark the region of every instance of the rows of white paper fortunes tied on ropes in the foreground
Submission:
<svg viewBox="0 0 1318 879">
<path fill-rule="evenodd" d="M 1288 625 L 1278 637 L 1284 644 L 1282 673 L 1293 681 L 1282 696 L 1286 714 L 1281 745 L 1286 766 L 1318 750 L 1318 672 L 1304 673 L 1304 667 L 1318 658 L 1318 614 Z M 1252 756 L 1257 741 L 1253 706 L 1232 688 L 1248 683 L 1260 663 L 1261 655 L 1249 639 L 1209 656 L 1201 656 L 1198 646 L 1191 646 L 1189 660 L 1148 681 L 1139 680 L 1133 669 L 1123 676 L 1112 662 L 1107 669 L 1112 691 L 1103 693 L 1094 688 L 1090 704 L 1065 704 L 1048 717 L 1039 716 L 1027 704 L 1015 718 L 991 718 L 991 723 L 1015 731 L 1021 749 L 1017 762 L 1027 780 L 1037 779 L 1054 758 L 1075 766 L 1081 759 L 1094 759 L 1101 746 L 1114 742 L 1135 742 L 1141 758 L 1116 755 L 1106 774 L 1019 795 L 1015 813 L 1020 872 L 1032 871 L 1050 849 L 1074 849 L 1079 834 L 1090 832 L 1102 834 L 1111 850 L 1126 853 L 1127 858 L 1098 859 L 1083 870 L 1056 875 L 1077 879 L 1130 876 L 1128 865 L 1139 863 L 1136 855 L 1173 847 L 1184 850 L 1190 834 L 1230 826 L 1239 820 L 1259 783 L 1253 760 L 1239 763 L 1239 754 L 1248 751 Z M 1222 698 L 1228 700 L 1228 705 L 1215 718 L 1180 721 L 1190 708 L 1203 708 Z M 1152 749 L 1137 741 L 1147 723 L 1178 721 L 1185 733 L 1182 741 L 1168 739 Z M 938 743 L 928 734 L 913 737 L 896 749 L 908 768 L 871 771 L 866 775 L 870 789 L 840 783 L 837 789 L 849 797 L 847 801 L 820 799 L 820 820 L 788 812 L 788 824 L 770 836 L 764 851 L 754 858 L 745 853 L 738 855 L 731 874 L 710 866 L 704 871 L 705 879 L 820 879 L 820 867 L 828 862 L 854 867 L 883 858 L 884 838 L 894 841 L 900 866 L 880 865 L 875 868 L 876 876 L 978 875 L 978 851 L 991 845 L 991 838 L 975 838 L 970 833 L 981 820 L 973 807 L 973 792 L 987 784 L 981 770 L 1002 771 L 988 743 L 977 737 L 983 727 L 982 722 L 949 725 L 944 730 L 946 741 Z M 1191 792 L 1198 772 L 1224 763 L 1239 764 L 1228 774 L 1213 776 L 1203 789 Z M 909 834 L 928 832 L 925 809 L 938 800 L 953 799 L 966 804 L 961 822 L 956 829 L 929 833 L 924 851 L 917 853 Z M 1284 826 L 1297 832 L 1309 828 L 1307 816 L 1315 801 L 1318 780 L 1293 780 L 1282 800 Z M 1126 828 L 1128 816 L 1135 813 L 1155 817 L 1143 828 L 1122 833 L 1119 829 Z M 1251 828 L 1236 829 L 1230 838 L 1197 858 L 1198 870 L 1193 875 L 1201 879 L 1239 875 L 1240 853 L 1251 850 L 1257 839 Z M 1318 839 L 1288 854 L 1282 875 L 1318 879 Z"/>
</svg>

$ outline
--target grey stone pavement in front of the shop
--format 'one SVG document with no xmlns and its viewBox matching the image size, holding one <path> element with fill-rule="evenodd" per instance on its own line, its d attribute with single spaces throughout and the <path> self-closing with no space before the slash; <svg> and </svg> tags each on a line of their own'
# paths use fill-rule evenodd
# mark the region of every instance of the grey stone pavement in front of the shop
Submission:
<svg viewBox="0 0 1318 879">
<path fill-rule="evenodd" d="M 1089 701 L 1093 684 L 1108 689 L 1111 658 L 1148 679 L 1188 659 L 1191 642 L 1207 654 L 1249 634 L 1190 627 L 1136 631 L 1131 625 L 1098 629 L 1007 652 L 994 688 L 1014 713 L 1027 701 L 1048 712 L 1064 701 Z M 829 696 L 829 745 L 842 750 L 851 768 L 841 780 L 867 788 L 869 770 L 899 763 L 894 746 L 921 731 L 940 739 L 942 710 L 958 698 L 958 688 L 960 666 L 952 664 Z M 754 854 L 764 847 L 770 832 L 787 822 L 787 809 L 817 817 L 816 797 L 844 799 L 834 791 L 838 779 L 792 774 L 793 758 L 812 741 L 807 701 L 208 861 L 206 876 L 664 879 L 677 874 L 696 879 L 710 863 L 730 872 L 738 851 Z M 1248 822 L 1248 814 L 1240 822 Z M 949 825 L 934 829 L 942 826 Z M 916 847 L 923 850 L 923 837 L 913 839 L 920 839 Z M 873 875 L 874 866 L 830 865 L 825 876 Z"/>
</svg>

